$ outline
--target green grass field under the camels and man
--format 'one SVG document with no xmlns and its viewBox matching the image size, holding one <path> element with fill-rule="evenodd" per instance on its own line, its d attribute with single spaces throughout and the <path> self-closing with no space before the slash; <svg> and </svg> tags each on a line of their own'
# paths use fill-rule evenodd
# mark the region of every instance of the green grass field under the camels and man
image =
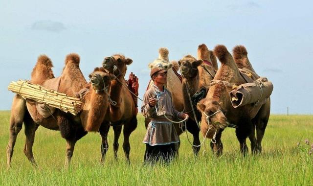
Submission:
<svg viewBox="0 0 313 186">
<path fill-rule="evenodd" d="M 270 116 L 260 156 L 252 156 L 249 148 L 249 155 L 242 157 L 232 128 L 223 133 L 224 154 L 219 158 L 211 154 L 208 140 L 206 153 L 202 155 L 201 148 L 200 156 L 194 157 L 186 134 L 182 134 L 179 158 L 169 166 L 143 166 L 145 127 L 141 115 L 131 135 L 131 165 L 124 158 L 122 135 L 115 162 L 111 129 L 104 165 L 99 163 L 100 135 L 90 133 L 76 143 L 71 168 L 65 170 L 65 140 L 60 132 L 40 127 L 33 147 L 39 168 L 33 168 L 23 154 L 25 136 L 21 131 L 11 169 L 6 170 L 9 116 L 7 111 L 0 112 L 0 185 L 313 185 L 313 154 L 308 153 L 313 116 Z M 310 145 L 305 144 L 306 139 L 312 140 Z"/>
</svg>

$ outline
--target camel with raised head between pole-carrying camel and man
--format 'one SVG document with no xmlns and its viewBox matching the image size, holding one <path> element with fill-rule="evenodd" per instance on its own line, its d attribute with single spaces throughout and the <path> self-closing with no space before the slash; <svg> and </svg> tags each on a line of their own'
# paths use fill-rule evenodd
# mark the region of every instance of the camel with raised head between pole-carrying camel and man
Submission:
<svg viewBox="0 0 313 186">
<path fill-rule="evenodd" d="M 124 134 L 124 142 L 123 142 L 123 150 L 125 153 L 125 157 L 128 163 L 130 163 L 130 150 L 131 146 L 129 143 L 129 137 L 131 133 L 137 127 L 137 105 L 135 105 L 135 100 L 133 99 L 132 93 L 128 89 L 128 84 L 126 83 L 124 77 L 127 70 L 127 65 L 133 63 L 132 59 L 125 58 L 123 55 L 113 55 L 111 57 L 105 57 L 102 63 L 102 66 L 108 70 L 110 73 L 116 76 L 116 79 L 112 81 L 110 96 L 113 101 L 116 102 L 116 105 L 111 104 L 108 108 L 107 114 L 104 119 L 104 123 L 100 127 L 100 135 L 102 137 L 102 145 L 101 145 L 101 162 L 104 162 L 105 155 L 108 151 L 108 132 L 110 129 L 110 125 L 112 125 L 114 130 L 114 142 L 113 142 L 113 150 L 114 157 L 117 160 L 117 150 L 118 150 L 118 139 L 121 134 L 122 125 L 123 134 Z M 134 83 L 138 79 L 134 79 Z"/>
</svg>

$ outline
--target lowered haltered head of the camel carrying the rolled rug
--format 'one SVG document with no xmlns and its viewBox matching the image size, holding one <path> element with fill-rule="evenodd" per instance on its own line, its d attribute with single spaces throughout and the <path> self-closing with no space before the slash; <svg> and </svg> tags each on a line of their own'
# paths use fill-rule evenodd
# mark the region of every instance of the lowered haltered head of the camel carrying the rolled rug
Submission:
<svg viewBox="0 0 313 186">
<path fill-rule="evenodd" d="M 205 122 L 215 129 L 224 129 L 229 125 L 224 115 L 226 111 L 218 101 L 204 98 L 197 104 L 197 108 L 202 113 L 201 123 Z"/>
</svg>

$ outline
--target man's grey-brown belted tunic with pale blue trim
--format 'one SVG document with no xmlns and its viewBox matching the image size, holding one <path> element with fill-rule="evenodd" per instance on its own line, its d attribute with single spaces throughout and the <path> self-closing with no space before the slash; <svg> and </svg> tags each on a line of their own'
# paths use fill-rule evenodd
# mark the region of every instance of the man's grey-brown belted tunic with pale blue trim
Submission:
<svg viewBox="0 0 313 186">
<path fill-rule="evenodd" d="M 151 119 L 143 143 L 151 146 L 179 142 L 173 123 L 163 116 L 165 114 L 168 118 L 174 120 L 178 117 L 179 112 L 174 108 L 172 94 L 165 88 L 163 90 L 163 92 L 160 92 L 155 85 L 152 85 L 144 94 L 141 107 L 143 116 Z M 158 99 L 155 107 L 149 106 L 149 98 Z"/>
</svg>

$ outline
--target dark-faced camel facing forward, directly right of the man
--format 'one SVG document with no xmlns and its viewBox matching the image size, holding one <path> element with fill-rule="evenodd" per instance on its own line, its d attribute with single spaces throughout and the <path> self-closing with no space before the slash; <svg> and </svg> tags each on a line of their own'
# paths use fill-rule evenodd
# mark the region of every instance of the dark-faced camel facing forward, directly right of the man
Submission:
<svg viewBox="0 0 313 186">
<path fill-rule="evenodd" d="M 211 58 L 213 59 L 215 56 L 211 56 L 207 46 L 202 44 L 198 47 L 198 60 L 191 55 L 186 55 L 181 60 L 179 60 L 180 72 L 183 77 L 182 93 L 185 112 L 187 112 L 189 120 L 193 120 L 190 126 L 194 130 L 193 134 L 198 135 L 196 138 L 194 135 L 194 139 L 197 140 L 194 140 L 193 145 L 200 145 L 200 129 L 197 126 L 197 121 L 200 121 L 201 113 L 197 111 L 195 105 L 190 104 L 190 99 L 191 96 L 193 96 L 195 93 L 201 92 L 203 88 L 205 89 L 203 93 L 204 95 L 206 93 L 206 89 L 209 88 L 210 81 L 214 78 L 215 75 Z M 193 111 L 195 112 L 196 116 L 194 116 Z M 194 151 L 199 152 L 200 147 L 193 146 L 193 149 Z"/>
</svg>

